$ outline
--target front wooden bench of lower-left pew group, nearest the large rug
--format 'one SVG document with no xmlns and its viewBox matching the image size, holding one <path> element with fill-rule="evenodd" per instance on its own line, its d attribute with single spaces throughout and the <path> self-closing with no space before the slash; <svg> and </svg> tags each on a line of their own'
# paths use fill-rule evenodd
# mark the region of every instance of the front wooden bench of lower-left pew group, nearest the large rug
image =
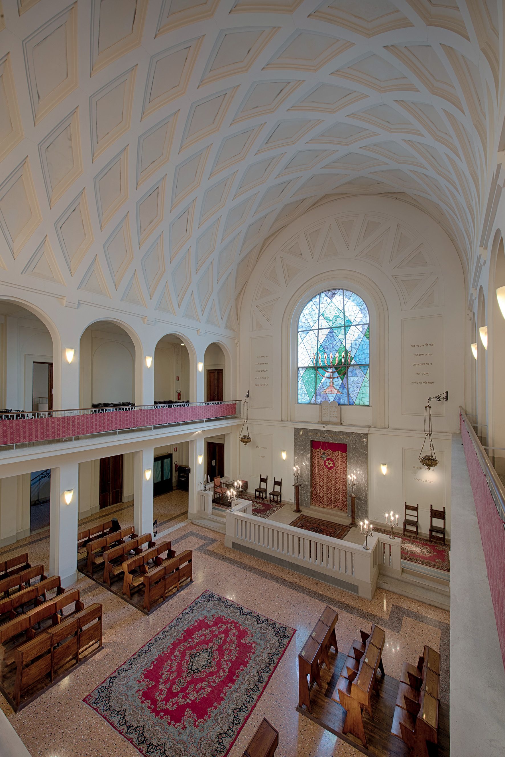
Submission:
<svg viewBox="0 0 505 757">
<path fill-rule="evenodd" d="M 102 606 L 93 604 L 18 646 L 14 653 L 16 706 L 20 706 L 26 689 L 45 677 L 52 682 L 58 670 L 69 662 L 79 662 L 80 655 L 92 644 L 98 643 L 100 647 L 101 631 Z"/>
</svg>

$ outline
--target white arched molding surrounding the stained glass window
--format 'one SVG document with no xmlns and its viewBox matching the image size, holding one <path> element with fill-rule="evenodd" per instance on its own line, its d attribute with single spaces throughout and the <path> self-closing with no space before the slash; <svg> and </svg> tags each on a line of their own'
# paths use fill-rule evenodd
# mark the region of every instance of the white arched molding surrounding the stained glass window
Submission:
<svg viewBox="0 0 505 757">
<path fill-rule="evenodd" d="M 370 347 L 369 376 L 371 413 L 370 424 L 377 427 L 388 425 L 388 392 L 386 372 L 388 366 L 388 305 L 379 287 L 363 273 L 349 269 L 319 273 L 305 282 L 286 304 L 282 318 L 282 418 L 296 420 L 298 405 L 298 320 L 301 311 L 316 294 L 328 289 L 347 289 L 357 294 L 369 312 Z M 355 407 L 355 406 L 351 406 Z M 352 410 L 351 410 L 352 412 Z"/>
</svg>

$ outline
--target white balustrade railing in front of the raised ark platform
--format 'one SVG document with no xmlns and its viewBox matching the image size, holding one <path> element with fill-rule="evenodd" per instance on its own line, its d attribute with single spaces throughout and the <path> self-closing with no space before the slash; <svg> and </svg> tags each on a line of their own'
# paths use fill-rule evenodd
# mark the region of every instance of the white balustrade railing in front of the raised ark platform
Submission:
<svg viewBox="0 0 505 757">
<path fill-rule="evenodd" d="M 380 535 L 369 537 L 369 550 L 364 550 L 364 540 L 363 544 L 352 544 L 244 512 L 226 512 L 226 547 L 264 556 L 369 600 L 376 590 L 383 559 Z M 394 541 L 398 544 L 392 549 L 399 553 L 401 540 Z M 393 559 L 395 565 L 399 564 L 396 556 Z"/>
</svg>

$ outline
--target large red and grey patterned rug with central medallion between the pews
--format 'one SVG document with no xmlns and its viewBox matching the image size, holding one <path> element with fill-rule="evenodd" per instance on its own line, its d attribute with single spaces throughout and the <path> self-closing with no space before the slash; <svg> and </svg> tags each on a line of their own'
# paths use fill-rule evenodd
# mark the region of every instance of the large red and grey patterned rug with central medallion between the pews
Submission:
<svg viewBox="0 0 505 757">
<path fill-rule="evenodd" d="M 294 634 L 204 591 L 83 702 L 145 757 L 225 757 Z"/>
</svg>

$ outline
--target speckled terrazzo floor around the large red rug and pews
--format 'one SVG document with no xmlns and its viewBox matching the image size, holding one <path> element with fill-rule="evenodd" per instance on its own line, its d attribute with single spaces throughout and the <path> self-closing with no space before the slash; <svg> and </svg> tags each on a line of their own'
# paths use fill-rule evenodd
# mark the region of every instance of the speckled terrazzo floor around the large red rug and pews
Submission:
<svg viewBox="0 0 505 757">
<path fill-rule="evenodd" d="M 181 503 L 177 505 L 174 501 L 173 508 L 177 506 Z M 168 512 L 166 514 L 168 516 Z M 172 513 L 168 517 L 173 518 L 167 524 L 172 526 L 176 525 L 177 519 L 184 520 L 185 513 Z M 123 521 L 128 525 L 126 518 L 124 510 L 120 514 L 121 525 Z M 83 704 L 82 699 L 205 589 L 297 629 L 295 638 L 232 747 L 230 757 L 242 755 L 263 717 L 267 717 L 279 731 L 276 757 L 360 753 L 295 710 L 298 704 L 298 652 L 326 604 L 338 609 L 336 631 L 339 648 L 343 651 L 347 651 L 352 640 L 359 637 L 360 628 L 369 630 L 372 622 L 385 628 L 386 646 L 382 659 L 386 673 L 395 678 L 399 678 L 404 660 L 417 660 L 425 643 L 440 651 L 441 699 L 448 701 L 447 611 L 380 589 L 376 590 L 371 602 L 354 597 L 313 578 L 229 550 L 224 546 L 223 534 L 192 523 L 183 522 L 170 537 L 178 552 L 193 550 L 192 584 L 152 615 L 145 616 L 94 581 L 80 578 L 76 587 L 80 589 L 84 602 L 101 602 L 104 606 L 103 649 L 16 715 L 0 696 L 0 706 L 11 718 L 32 757 L 137 757 L 139 752 L 135 747 Z M 17 545 L 16 551 L 20 546 Z M 42 556 L 40 540 L 29 547 L 32 562 L 36 559 L 36 549 Z M 8 550 L 0 550 L 0 555 Z"/>
</svg>

